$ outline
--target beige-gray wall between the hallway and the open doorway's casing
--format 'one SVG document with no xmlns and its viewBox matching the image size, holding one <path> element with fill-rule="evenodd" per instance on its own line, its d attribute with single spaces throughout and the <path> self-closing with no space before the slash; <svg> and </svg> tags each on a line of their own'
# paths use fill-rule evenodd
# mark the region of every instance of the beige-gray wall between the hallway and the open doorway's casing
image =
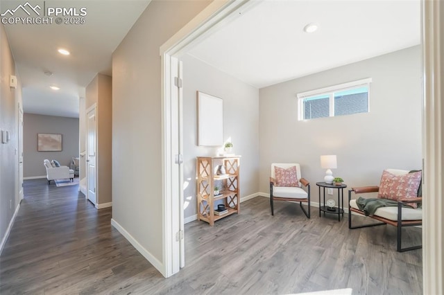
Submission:
<svg viewBox="0 0 444 295">
<path fill-rule="evenodd" d="M 159 48 L 209 3 L 151 1 L 112 55 L 112 219 L 160 263 L 164 244 Z"/>
</svg>

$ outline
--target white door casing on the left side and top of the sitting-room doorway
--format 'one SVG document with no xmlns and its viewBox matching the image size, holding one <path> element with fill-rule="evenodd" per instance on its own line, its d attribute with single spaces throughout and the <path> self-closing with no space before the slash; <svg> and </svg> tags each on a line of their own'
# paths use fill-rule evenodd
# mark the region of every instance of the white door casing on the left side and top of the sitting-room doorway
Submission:
<svg viewBox="0 0 444 295">
<path fill-rule="evenodd" d="M 185 53 L 193 42 L 206 35 L 211 28 L 223 26 L 225 19 L 237 17 L 239 11 L 251 8 L 256 1 L 213 1 L 194 19 L 160 47 L 162 62 L 162 236 L 163 266 L 165 277 L 176 274 L 185 265 L 183 244 L 183 169 L 176 164 L 176 154 L 182 154 L 182 89 L 175 85 L 174 77 L 180 77 L 182 66 L 175 56 Z M 174 61 L 176 60 L 176 61 Z M 177 64 L 174 65 L 174 64 Z M 174 75 L 177 73 L 178 75 Z M 180 75 L 179 75 L 180 74 Z M 172 92 L 178 100 L 172 104 Z M 175 151 L 176 150 L 176 151 Z M 178 241 L 180 242 L 178 242 Z"/>
</svg>

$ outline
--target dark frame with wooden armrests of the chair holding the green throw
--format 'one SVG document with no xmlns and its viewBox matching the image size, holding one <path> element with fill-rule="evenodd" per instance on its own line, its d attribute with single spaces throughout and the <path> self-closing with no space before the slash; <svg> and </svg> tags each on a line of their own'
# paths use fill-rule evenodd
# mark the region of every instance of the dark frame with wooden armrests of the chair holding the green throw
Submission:
<svg viewBox="0 0 444 295">
<path fill-rule="evenodd" d="M 416 198 L 411 198 L 411 199 L 407 199 L 407 198 L 402 198 L 402 199 L 398 199 L 398 220 L 394 221 L 394 220 L 388 220 L 384 217 L 380 217 L 377 215 L 372 215 L 372 216 L 366 216 L 365 213 L 363 211 L 360 211 L 358 209 L 352 208 L 350 206 L 350 201 L 352 199 L 352 192 L 355 192 L 355 194 L 364 194 L 364 193 L 377 193 L 379 191 L 379 186 L 363 186 L 360 188 L 352 188 L 350 190 L 348 190 L 348 229 L 361 229 L 363 227 L 368 227 L 368 226 L 378 226 L 378 225 L 383 225 L 383 224 L 391 224 L 393 226 L 396 227 L 397 229 L 397 233 L 396 233 L 396 242 L 397 242 L 397 247 L 396 247 L 396 251 L 398 252 L 405 252 L 405 251 L 411 251 L 411 250 L 416 250 L 416 249 L 421 249 L 422 245 L 418 245 L 418 246 L 413 246 L 413 247 L 407 247 L 407 248 L 402 248 L 402 228 L 405 226 L 418 226 L 418 225 L 422 225 L 422 220 L 402 220 L 402 204 L 406 204 L 406 203 L 420 203 L 422 202 L 422 197 L 416 197 Z M 352 212 L 358 213 L 360 215 L 364 215 L 366 217 L 370 217 L 373 218 L 374 220 L 379 220 L 380 222 L 378 223 L 373 223 L 373 224 L 364 224 L 361 226 L 352 226 Z"/>
</svg>

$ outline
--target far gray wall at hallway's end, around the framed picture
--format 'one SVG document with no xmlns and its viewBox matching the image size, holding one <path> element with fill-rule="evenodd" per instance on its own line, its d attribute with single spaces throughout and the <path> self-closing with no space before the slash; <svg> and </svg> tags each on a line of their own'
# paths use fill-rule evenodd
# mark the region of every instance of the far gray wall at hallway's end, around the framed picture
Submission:
<svg viewBox="0 0 444 295">
<path fill-rule="evenodd" d="M 46 177 L 43 160 L 57 160 L 68 166 L 78 157 L 78 118 L 24 114 L 24 177 Z M 62 134 L 62 152 L 37 152 L 37 134 Z"/>
</svg>

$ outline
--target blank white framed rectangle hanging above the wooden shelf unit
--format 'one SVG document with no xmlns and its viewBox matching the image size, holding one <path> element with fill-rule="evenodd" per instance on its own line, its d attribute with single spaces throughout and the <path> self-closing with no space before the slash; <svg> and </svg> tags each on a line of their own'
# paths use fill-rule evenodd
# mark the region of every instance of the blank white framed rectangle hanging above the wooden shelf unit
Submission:
<svg viewBox="0 0 444 295">
<path fill-rule="evenodd" d="M 197 91 L 197 145 L 223 145 L 223 100 Z"/>
</svg>

